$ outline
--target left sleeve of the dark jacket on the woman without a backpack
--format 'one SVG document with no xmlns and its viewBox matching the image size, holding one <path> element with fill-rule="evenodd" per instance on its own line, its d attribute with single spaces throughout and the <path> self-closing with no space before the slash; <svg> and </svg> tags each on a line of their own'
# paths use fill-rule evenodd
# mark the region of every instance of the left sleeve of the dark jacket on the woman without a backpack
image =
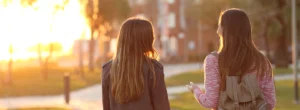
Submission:
<svg viewBox="0 0 300 110">
<path fill-rule="evenodd" d="M 110 110 L 110 100 L 109 100 L 109 84 L 107 82 L 105 74 L 105 69 L 102 69 L 102 105 L 103 110 Z"/>
</svg>

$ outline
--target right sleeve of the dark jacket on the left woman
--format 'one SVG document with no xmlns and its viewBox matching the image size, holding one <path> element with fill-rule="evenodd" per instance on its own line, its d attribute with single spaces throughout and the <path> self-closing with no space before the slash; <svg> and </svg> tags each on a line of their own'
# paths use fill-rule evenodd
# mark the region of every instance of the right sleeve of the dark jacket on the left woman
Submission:
<svg viewBox="0 0 300 110">
<path fill-rule="evenodd" d="M 154 110 L 170 110 L 163 68 L 156 71 L 156 85 L 151 89 L 151 101 Z"/>
</svg>

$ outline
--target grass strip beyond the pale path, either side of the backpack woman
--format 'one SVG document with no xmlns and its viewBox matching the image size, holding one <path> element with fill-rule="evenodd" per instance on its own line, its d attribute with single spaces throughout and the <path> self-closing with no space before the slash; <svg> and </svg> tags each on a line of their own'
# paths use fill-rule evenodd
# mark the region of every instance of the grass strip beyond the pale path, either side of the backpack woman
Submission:
<svg viewBox="0 0 300 110">
<path fill-rule="evenodd" d="M 273 69 L 274 75 L 282 75 L 292 73 L 291 69 L 288 68 L 275 68 Z M 203 83 L 204 82 L 204 72 L 203 70 L 185 72 L 176 76 L 172 76 L 166 79 L 167 86 L 178 86 L 186 85 L 189 82 Z"/>
</svg>

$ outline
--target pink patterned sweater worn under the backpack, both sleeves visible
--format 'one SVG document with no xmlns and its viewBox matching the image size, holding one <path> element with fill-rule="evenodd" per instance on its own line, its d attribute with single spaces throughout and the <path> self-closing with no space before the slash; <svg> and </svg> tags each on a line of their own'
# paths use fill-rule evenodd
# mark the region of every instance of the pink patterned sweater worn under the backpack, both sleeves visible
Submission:
<svg viewBox="0 0 300 110">
<path fill-rule="evenodd" d="M 218 58 L 216 56 L 211 54 L 206 56 L 204 61 L 204 73 L 205 93 L 197 88 L 193 91 L 194 96 L 203 107 L 217 108 L 221 78 L 218 70 Z M 259 80 L 259 86 L 265 95 L 265 100 L 269 107 L 273 109 L 276 103 L 274 79 L 272 77 L 265 77 Z"/>
</svg>

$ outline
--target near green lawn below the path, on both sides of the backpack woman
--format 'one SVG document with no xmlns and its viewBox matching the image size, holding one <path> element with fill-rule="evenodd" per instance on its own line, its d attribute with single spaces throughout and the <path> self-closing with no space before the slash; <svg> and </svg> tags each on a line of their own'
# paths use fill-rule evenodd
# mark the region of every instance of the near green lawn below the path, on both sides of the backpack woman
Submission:
<svg viewBox="0 0 300 110">
<path fill-rule="evenodd" d="M 299 110 L 300 104 L 293 103 L 293 81 L 277 81 L 275 84 L 276 110 Z M 190 92 L 178 94 L 176 99 L 170 101 L 170 104 L 173 110 L 207 110 L 197 103 Z"/>
</svg>

